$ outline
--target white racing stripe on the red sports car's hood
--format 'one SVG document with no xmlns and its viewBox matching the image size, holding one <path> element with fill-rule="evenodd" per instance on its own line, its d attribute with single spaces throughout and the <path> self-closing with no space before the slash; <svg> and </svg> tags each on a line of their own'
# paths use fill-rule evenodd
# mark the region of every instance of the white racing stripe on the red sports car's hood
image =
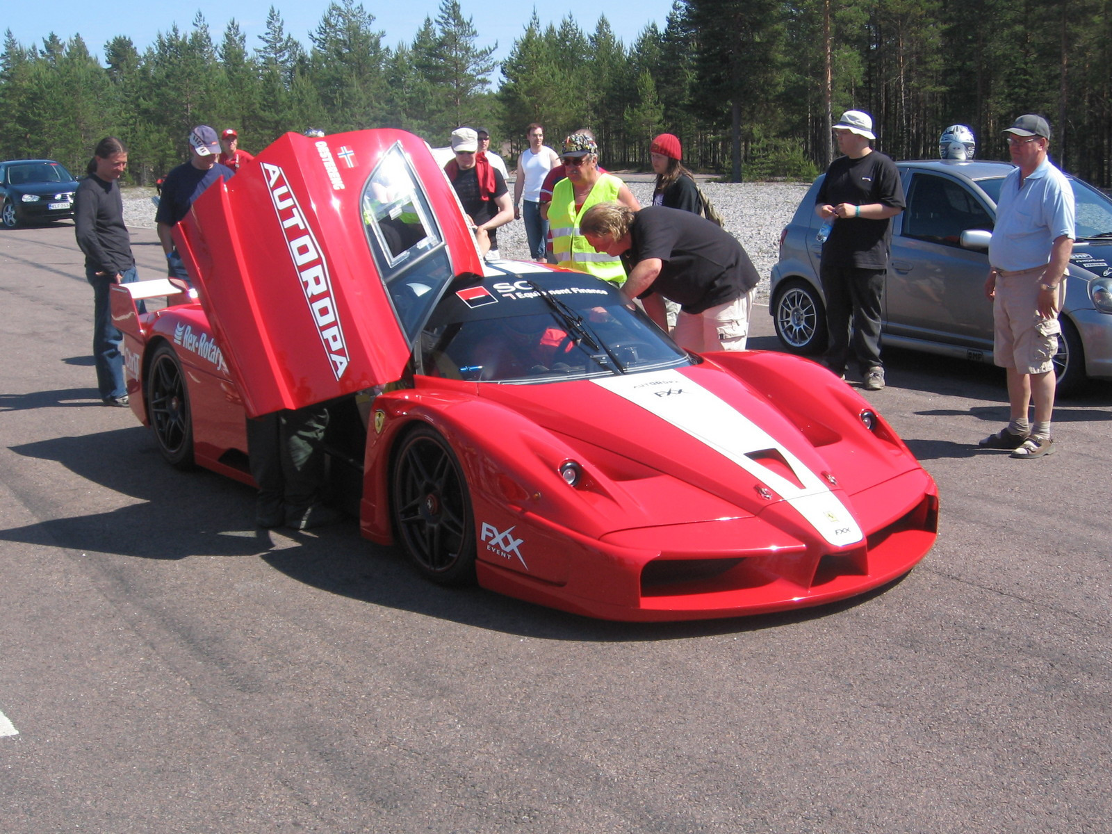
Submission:
<svg viewBox="0 0 1112 834">
<path fill-rule="evenodd" d="M 864 537 L 853 515 L 817 473 L 811 471 L 755 423 L 678 371 L 658 370 L 592 381 L 729 458 L 778 493 L 830 544 L 844 547 Z M 783 457 L 802 488 L 748 457 L 765 449 L 774 449 Z"/>
</svg>

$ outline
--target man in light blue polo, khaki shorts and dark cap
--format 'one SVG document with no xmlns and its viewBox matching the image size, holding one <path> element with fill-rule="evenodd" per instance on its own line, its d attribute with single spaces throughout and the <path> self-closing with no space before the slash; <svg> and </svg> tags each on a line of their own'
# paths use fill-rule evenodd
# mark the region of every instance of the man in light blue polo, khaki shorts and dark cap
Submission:
<svg viewBox="0 0 1112 834">
<path fill-rule="evenodd" d="M 1054 451 L 1051 360 L 1062 331 L 1058 312 L 1075 237 L 1073 188 L 1046 159 L 1050 125 L 1044 118 L 1021 116 L 1004 135 L 1016 168 L 1000 188 L 984 291 L 995 322 L 993 360 L 1007 371 L 1011 413 L 1007 426 L 980 445 L 1035 458 Z M 1034 425 L 1027 423 L 1032 399 Z"/>
</svg>

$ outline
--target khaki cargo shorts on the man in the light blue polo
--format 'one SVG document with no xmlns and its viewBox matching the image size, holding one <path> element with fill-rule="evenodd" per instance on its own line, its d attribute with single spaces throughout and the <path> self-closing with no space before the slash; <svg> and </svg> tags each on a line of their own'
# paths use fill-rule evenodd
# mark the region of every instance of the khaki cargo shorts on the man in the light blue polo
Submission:
<svg viewBox="0 0 1112 834">
<path fill-rule="evenodd" d="M 1058 353 L 1058 318 L 1039 315 L 1039 282 L 1043 267 L 996 277 L 992 305 L 993 363 L 1021 374 L 1045 374 L 1054 369 Z"/>
</svg>

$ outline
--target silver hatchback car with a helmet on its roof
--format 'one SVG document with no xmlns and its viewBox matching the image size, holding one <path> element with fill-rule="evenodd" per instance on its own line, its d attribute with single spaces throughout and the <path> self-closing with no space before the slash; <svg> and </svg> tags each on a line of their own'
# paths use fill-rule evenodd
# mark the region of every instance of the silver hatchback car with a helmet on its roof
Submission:
<svg viewBox="0 0 1112 834">
<path fill-rule="evenodd" d="M 992 361 L 992 302 L 984 297 L 996 198 L 1010 162 L 896 162 L 907 208 L 893 219 L 892 257 L 882 299 L 883 344 Z M 821 221 L 807 191 L 781 234 L 772 270 L 776 335 L 794 354 L 826 348 L 826 315 L 816 239 Z M 1070 178 L 1076 234 L 1054 357 L 1060 394 L 1089 378 L 1112 379 L 1112 199 Z"/>
</svg>

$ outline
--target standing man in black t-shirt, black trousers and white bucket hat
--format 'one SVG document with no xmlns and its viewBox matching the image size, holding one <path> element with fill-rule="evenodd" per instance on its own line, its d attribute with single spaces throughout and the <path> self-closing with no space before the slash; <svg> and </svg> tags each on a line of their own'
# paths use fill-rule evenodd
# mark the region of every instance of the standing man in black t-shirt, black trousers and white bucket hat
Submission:
<svg viewBox="0 0 1112 834">
<path fill-rule="evenodd" d="M 884 387 L 881 294 L 888 269 L 892 218 L 906 203 L 895 163 L 868 146 L 876 138 L 868 113 L 846 110 L 834 135 L 845 156 L 831 162 L 815 198 L 815 212 L 835 221 L 818 268 L 830 330 L 826 364 L 845 378 L 852 316 L 853 347 L 865 388 L 876 391 Z"/>
</svg>

